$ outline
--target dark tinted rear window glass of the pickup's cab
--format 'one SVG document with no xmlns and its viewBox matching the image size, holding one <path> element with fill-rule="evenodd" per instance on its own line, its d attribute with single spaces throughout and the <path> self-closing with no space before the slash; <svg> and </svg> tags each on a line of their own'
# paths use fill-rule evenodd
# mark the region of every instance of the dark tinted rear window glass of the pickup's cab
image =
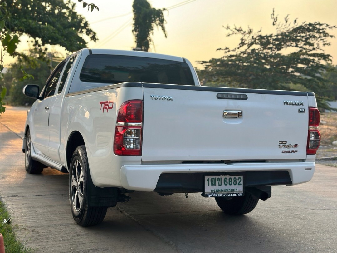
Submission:
<svg viewBox="0 0 337 253">
<path fill-rule="evenodd" d="M 89 55 L 80 74 L 82 82 L 123 82 L 194 85 L 184 62 L 124 55 Z"/>
</svg>

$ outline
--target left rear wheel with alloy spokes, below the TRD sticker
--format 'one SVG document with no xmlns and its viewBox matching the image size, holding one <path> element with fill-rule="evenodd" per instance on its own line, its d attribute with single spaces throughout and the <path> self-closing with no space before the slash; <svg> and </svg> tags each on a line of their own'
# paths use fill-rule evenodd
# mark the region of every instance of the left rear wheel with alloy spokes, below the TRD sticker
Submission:
<svg viewBox="0 0 337 253">
<path fill-rule="evenodd" d="M 80 226 L 93 226 L 103 221 L 107 207 L 89 204 L 91 184 L 85 145 L 78 146 L 71 158 L 69 169 L 69 201 L 72 217 Z"/>
</svg>

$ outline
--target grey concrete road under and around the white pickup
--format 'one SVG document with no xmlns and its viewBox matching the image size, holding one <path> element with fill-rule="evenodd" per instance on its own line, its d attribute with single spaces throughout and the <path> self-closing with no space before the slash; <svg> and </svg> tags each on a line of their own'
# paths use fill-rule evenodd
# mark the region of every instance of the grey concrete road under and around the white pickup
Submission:
<svg viewBox="0 0 337 253">
<path fill-rule="evenodd" d="M 36 252 L 337 252 L 337 169 L 317 165 L 302 185 L 273 187 L 249 214 L 222 213 L 200 194 L 135 192 L 109 208 L 102 224 L 72 219 L 68 175 L 25 172 L 26 109 L 0 116 L 0 196 L 18 234 Z"/>
</svg>

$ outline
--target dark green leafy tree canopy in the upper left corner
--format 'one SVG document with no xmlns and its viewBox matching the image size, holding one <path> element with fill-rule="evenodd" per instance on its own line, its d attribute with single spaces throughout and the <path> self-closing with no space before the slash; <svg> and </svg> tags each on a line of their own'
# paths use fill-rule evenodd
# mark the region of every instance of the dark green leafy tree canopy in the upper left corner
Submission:
<svg viewBox="0 0 337 253">
<path fill-rule="evenodd" d="M 98 10 L 96 5 L 85 4 Z M 3 46 L 10 55 L 19 55 L 19 38 L 27 34 L 41 52 L 46 45 L 60 45 L 68 51 L 84 48 L 87 43 L 83 36 L 96 41 L 96 33 L 74 8 L 70 0 L 0 0 L 0 15 L 5 22 Z"/>
</svg>

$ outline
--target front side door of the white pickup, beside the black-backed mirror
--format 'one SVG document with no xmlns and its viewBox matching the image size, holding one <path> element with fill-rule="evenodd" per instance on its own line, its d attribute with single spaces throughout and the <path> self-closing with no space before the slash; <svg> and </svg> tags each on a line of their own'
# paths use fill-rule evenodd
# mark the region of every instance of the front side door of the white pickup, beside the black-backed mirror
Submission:
<svg viewBox="0 0 337 253">
<path fill-rule="evenodd" d="M 38 101 L 33 113 L 32 141 L 34 151 L 44 157 L 50 157 L 49 145 L 49 110 L 56 91 L 59 78 L 65 61 L 62 61 L 52 72 L 41 92 L 41 100 Z"/>
</svg>

